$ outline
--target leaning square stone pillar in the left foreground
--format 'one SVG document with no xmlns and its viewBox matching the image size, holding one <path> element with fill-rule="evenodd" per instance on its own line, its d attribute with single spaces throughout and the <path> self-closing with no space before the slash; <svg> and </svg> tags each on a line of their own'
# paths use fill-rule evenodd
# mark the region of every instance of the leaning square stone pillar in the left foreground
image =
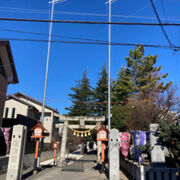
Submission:
<svg viewBox="0 0 180 180">
<path fill-rule="evenodd" d="M 16 125 L 13 127 L 6 180 L 20 180 L 22 177 L 26 134 L 25 126 Z"/>
</svg>

